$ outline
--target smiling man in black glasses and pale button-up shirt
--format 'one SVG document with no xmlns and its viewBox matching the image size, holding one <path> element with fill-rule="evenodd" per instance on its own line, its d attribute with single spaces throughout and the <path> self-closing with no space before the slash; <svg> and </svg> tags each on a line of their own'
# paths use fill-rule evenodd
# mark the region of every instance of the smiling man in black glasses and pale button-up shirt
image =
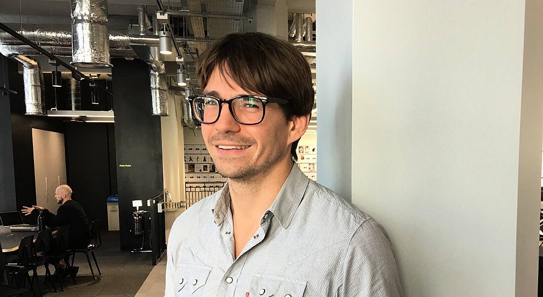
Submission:
<svg viewBox="0 0 543 297">
<path fill-rule="evenodd" d="M 228 183 L 175 220 L 166 296 L 402 296 L 382 227 L 294 163 L 314 101 L 304 56 L 230 34 L 197 72 L 192 112 Z"/>
</svg>

